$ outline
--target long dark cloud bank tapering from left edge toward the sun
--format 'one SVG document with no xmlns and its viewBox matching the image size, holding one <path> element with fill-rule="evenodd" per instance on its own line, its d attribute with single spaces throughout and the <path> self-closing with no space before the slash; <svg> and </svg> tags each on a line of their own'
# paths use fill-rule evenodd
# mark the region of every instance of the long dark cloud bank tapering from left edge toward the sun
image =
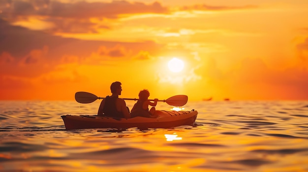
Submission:
<svg viewBox="0 0 308 172">
<path fill-rule="evenodd" d="M 127 57 L 128 53 L 137 54 L 140 50 L 155 51 L 159 49 L 157 44 L 152 41 L 121 43 L 63 38 L 20 26 L 12 26 L 1 19 L 0 38 L 1 63 L 23 60 L 24 64 L 33 64 L 39 58 L 44 57 L 49 64 L 56 64 L 62 60 L 63 56 L 74 56 L 74 58 L 82 59 L 95 52 L 100 55 L 119 58 Z M 100 47 L 104 48 L 100 49 Z"/>
</svg>

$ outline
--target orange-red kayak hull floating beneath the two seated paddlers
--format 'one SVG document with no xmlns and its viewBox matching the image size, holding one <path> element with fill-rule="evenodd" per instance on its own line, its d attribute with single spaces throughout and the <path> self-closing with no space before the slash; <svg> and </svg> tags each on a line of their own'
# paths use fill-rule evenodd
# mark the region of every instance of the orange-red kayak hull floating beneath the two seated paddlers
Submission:
<svg viewBox="0 0 308 172">
<path fill-rule="evenodd" d="M 172 128 L 181 125 L 193 125 L 198 112 L 156 110 L 157 118 L 134 117 L 115 119 L 97 115 L 63 115 L 66 130 L 87 128 Z"/>
</svg>

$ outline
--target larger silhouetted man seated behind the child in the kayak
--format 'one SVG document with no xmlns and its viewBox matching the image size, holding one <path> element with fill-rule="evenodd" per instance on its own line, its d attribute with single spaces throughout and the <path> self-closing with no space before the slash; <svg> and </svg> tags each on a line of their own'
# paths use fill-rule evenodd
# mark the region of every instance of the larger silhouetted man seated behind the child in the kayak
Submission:
<svg viewBox="0 0 308 172">
<path fill-rule="evenodd" d="M 110 86 L 112 95 L 104 98 L 98 108 L 98 116 L 114 118 L 131 118 L 124 99 L 119 98 L 122 92 L 121 82 L 113 82 Z"/>
</svg>

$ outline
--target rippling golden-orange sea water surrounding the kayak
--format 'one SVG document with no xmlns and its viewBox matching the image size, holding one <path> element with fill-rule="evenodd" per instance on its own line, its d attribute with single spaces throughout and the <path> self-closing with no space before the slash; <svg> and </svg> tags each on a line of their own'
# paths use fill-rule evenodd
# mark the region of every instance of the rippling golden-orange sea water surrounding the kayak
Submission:
<svg viewBox="0 0 308 172">
<path fill-rule="evenodd" d="M 308 101 L 188 101 L 194 126 L 65 130 L 98 106 L 0 101 L 0 172 L 308 172 Z"/>
</svg>

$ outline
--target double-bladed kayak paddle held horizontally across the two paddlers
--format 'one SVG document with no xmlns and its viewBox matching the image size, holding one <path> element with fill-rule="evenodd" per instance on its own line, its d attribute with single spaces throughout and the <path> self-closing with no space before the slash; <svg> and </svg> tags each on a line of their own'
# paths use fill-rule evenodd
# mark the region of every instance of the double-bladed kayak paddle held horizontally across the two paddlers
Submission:
<svg viewBox="0 0 308 172">
<path fill-rule="evenodd" d="M 88 92 L 77 92 L 75 94 L 75 99 L 79 103 L 92 103 L 96 99 L 103 99 L 99 98 L 92 93 Z M 137 98 L 123 98 L 124 100 L 138 100 Z M 154 99 L 149 99 L 150 101 L 154 101 Z M 158 100 L 166 102 L 167 104 L 171 106 L 184 106 L 187 103 L 188 97 L 186 95 L 177 95 L 172 96 L 171 98 L 168 98 L 166 100 Z"/>
</svg>

